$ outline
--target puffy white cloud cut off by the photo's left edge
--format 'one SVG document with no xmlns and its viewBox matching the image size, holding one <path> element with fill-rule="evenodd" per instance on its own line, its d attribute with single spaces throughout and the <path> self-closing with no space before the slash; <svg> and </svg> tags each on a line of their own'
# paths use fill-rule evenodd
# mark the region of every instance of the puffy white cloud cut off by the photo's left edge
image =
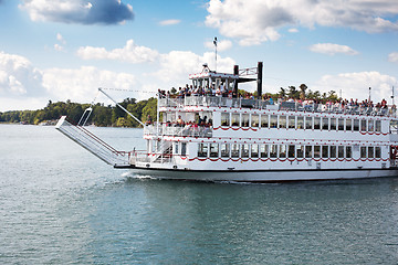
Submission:
<svg viewBox="0 0 398 265">
<path fill-rule="evenodd" d="M 38 96 L 43 92 L 40 70 L 23 56 L 0 52 L 1 96 Z"/>
</svg>

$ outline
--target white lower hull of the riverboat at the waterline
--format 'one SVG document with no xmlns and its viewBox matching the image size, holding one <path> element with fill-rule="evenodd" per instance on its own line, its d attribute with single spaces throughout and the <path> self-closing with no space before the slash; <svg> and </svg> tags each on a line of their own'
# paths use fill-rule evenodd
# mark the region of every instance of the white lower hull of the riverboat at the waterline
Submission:
<svg viewBox="0 0 398 265">
<path fill-rule="evenodd" d="M 135 176 L 196 181 L 284 182 L 398 177 L 398 169 L 191 171 L 133 168 Z"/>
</svg>

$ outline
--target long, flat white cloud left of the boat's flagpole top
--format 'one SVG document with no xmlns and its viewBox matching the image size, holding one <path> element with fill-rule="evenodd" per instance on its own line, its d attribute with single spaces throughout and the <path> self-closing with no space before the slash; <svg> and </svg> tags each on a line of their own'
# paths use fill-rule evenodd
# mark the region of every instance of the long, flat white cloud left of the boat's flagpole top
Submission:
<svg viewBox="0 0 398 265">
<path fill-rule="evenodd" d="M 105 47 L 80 47 L 77 56 L 83 60 L 116 60 L 128 63 L 144 63 L 156 61 L 159 53 L 146 46 L 138 46 L 133 40 L 128 40 L 124 47 L 112 51 L 106 51 Z"/>
</svg>

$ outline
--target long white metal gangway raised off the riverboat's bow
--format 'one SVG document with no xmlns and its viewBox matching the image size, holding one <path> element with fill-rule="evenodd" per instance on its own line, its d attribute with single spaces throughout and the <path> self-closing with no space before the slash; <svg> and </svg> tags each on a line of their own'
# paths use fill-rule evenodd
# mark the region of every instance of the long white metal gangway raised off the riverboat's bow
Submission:
<svg viewBox="0 0 398 265">
<path fill-rule="evenodd" d="M 130 152 L 118 151 L 81 125 L 74 125 L 62 116 L 55 128 L 104 162 L 114 167 L 128 167 Z"/>
</svg>

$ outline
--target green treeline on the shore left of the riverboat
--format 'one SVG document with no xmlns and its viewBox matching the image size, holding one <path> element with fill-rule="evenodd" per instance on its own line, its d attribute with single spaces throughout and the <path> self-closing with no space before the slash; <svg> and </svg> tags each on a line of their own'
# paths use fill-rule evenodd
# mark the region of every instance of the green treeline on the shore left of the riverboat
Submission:
<svg viewBox="0 0 398 265">
<path fill-rule="evenodd" d="M 135 98 L 126 98 L 119 103 L 124 108 L 130 112 L 139 120 L 146 120 L 148 115 L 156 118 L 157 99 L 151 97 L 146 100 L 137 102 Z M 43 109 L 39 110 L 11 110 L 0 113 L 0 123 L 23 123 L 31 125 L 39 125 L 43 121 L 57 120 L 61 116 L 66 115 L 67 119 L 77 124 L 84 110 L 92 107 L 87 124 L 95 126 L 108 127 L 138 127 L 139 124 L 128 116 L 119 107 L 105 106 L 104 104 L 78 104 L 71 100 L 52 103 Z"/>
</svg>

